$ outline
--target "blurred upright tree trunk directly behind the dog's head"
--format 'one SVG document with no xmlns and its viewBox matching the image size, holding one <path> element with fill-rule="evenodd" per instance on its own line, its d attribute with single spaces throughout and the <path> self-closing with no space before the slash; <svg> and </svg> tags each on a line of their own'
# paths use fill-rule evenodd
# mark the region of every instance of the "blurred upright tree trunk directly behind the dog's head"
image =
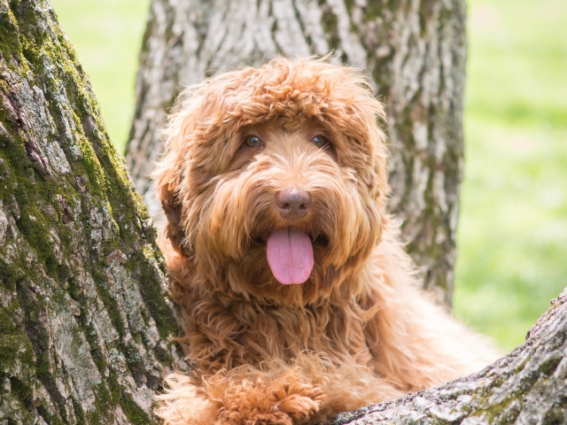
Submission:
<svg viewBox="0 0 567 425">
<path fill-rule="evenodd" d="M 183 86 L 282 53 L 366 67 L 388 106 L 391 210 L 424 286 L 450 304 L 462 177 L 464 0 L 152 0 L 128 169 L 154 216 L 148 174 Z"/>
</svg>

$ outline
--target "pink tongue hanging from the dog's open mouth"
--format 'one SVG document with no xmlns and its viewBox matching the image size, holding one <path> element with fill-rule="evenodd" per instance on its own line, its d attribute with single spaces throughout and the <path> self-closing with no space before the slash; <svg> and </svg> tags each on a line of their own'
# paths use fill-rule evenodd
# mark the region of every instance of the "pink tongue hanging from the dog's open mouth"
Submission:
<svg viewBox="0 0 567 425">
<path fill-rule="evenodd" d="M 307 281 L 313 268 L 311 239 L 293 228 L 268 237 L 268 264 L 277 282 L 284 285 Z"/>
</svg>

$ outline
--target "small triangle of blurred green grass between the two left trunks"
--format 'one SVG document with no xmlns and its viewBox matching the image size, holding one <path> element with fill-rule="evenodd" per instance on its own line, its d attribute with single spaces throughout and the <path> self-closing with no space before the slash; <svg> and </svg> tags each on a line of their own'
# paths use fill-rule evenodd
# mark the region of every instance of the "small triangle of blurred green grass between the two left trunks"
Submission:
<svg viewBox="0 0 567 425">
<path fill-rule="evenodd" d="M 105 117 L 124 151 L 134 113 L 134 83 L 149 0 L 51 0 L 59 23 L 78 52 Z"/>
</svg>

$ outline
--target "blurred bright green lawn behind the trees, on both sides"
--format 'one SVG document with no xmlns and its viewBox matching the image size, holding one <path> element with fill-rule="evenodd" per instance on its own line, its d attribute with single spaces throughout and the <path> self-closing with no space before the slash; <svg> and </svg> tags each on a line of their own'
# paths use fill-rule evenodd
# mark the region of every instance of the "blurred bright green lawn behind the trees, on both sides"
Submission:
<svg viewBox="0 0 567 425">
<path fill-rule="evenodd" d="M 51 0 L 119 151 L 149 0 Z M 454 314 L 509 352 L 567 286 L 567 2 L 470 0 Z"/>
</svg>

